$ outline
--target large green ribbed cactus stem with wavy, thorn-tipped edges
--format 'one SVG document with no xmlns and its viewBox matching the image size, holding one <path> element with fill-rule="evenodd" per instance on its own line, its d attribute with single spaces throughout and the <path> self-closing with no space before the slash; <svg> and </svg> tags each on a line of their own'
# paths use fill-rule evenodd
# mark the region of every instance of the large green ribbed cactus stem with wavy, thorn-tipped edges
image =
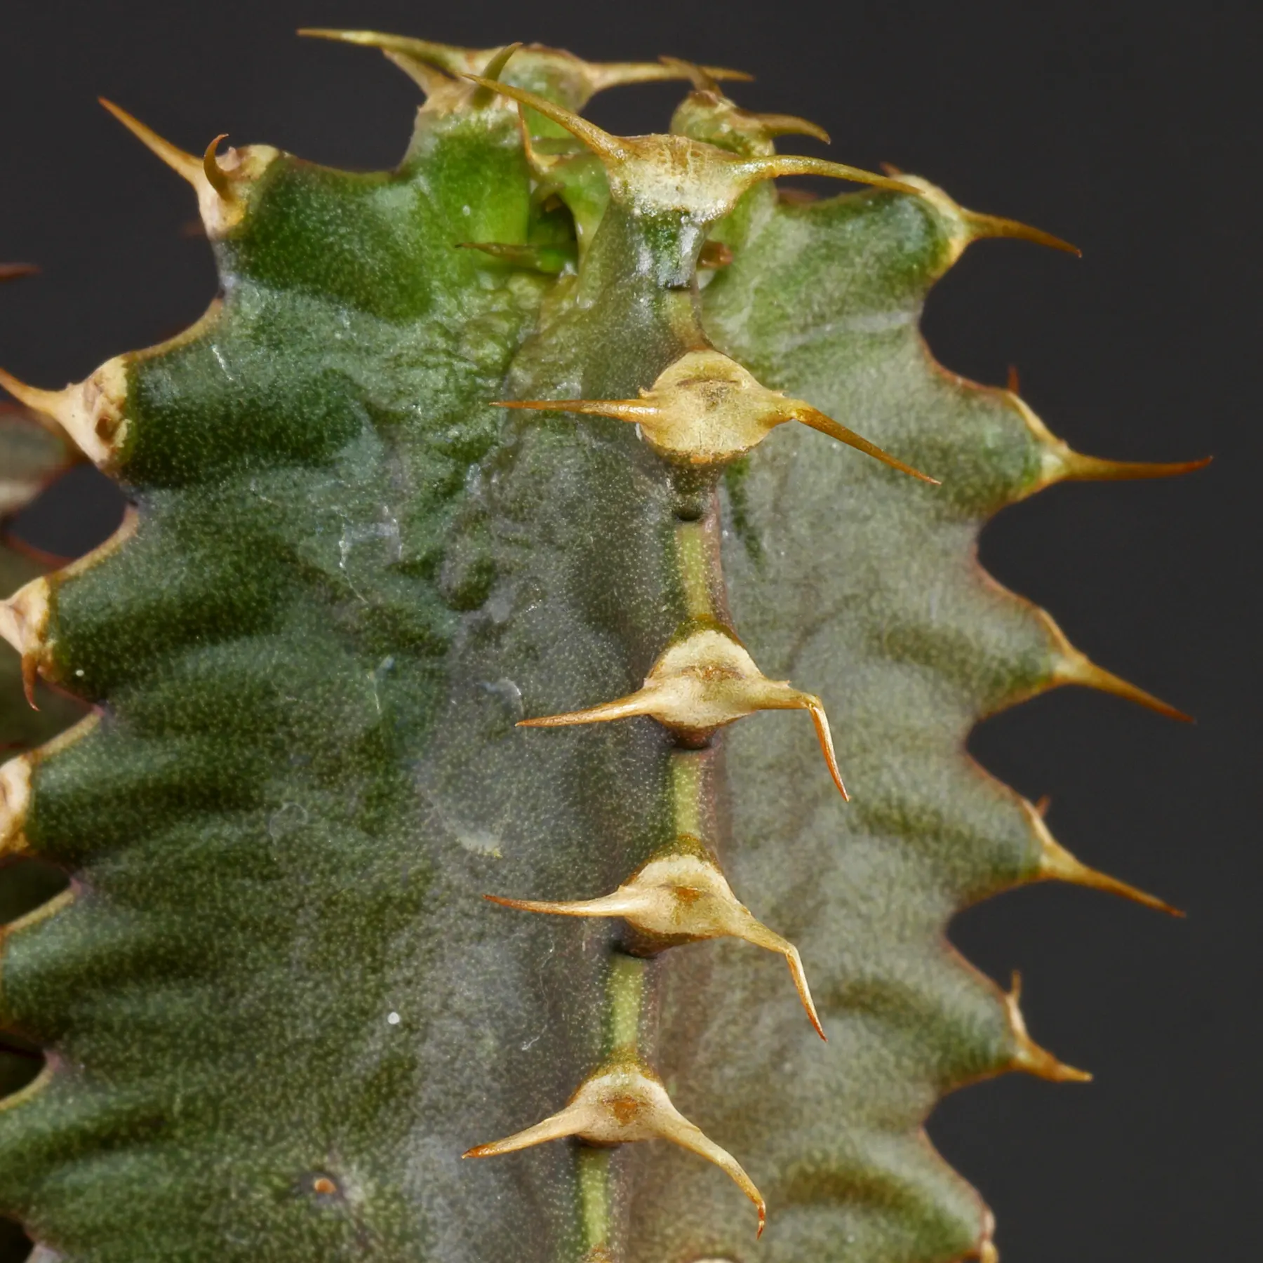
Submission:
<svg viewBox="0 0 1263 1263">
<path fill-rule="evenodd" d="M 224 297 L 83 388 L 5 379 L 138 512 L 0 609 L 97 716 L 4 769 L 0 849 L 72 885 L 4 940 L 0 1018 L 48 1063 L 0 1103 L 0 1210 L 48 1263 L 994 1258 L 922 1123 L 980 1077 L 1082 1076 L 943 927 L 1048 878 L 1156 901 L 965 753 L 1061 683 L 1146 700 L 974 541 L 1058 479 L 1175 470 L 1071 453 L 930 359 L 928 287 L 1032 230 L 912 177 L 781 201 L 768 176 L 820 163 L 770 138 L 810 125 L 683 63 L 347 38 L 428 93 L 397 172 L 203 160 L 125 119 L 197 187 Z M 682 75 L 674 139 L 567 114 Z M 657 407 L 686 355 L 709 402 L 639 428 L 493 407 Z M 767 392 L 942 485 L 767 421 Z M 745 437 L 658 442 L 697 408 Z M 659 719 L 515 726 L 647 676 Z M 823 703 L 849 805 L 807 716 L 751 714 L 806 705 L 782 679 Z M 748 717 L 714 735 L 724 706 Z M 827 1043 L 757 936 L 702 932 L 740 918 L 714 885 L 698 919 L 715 856 Z M 591 901 L 642 865 L 667 877 L 621 919 L 482 898 Z M 576 1090 L 571 1138 L 462 1161 Z M 676 1143 L 575 1139 L 645 1135 Z"/>
</svg>

